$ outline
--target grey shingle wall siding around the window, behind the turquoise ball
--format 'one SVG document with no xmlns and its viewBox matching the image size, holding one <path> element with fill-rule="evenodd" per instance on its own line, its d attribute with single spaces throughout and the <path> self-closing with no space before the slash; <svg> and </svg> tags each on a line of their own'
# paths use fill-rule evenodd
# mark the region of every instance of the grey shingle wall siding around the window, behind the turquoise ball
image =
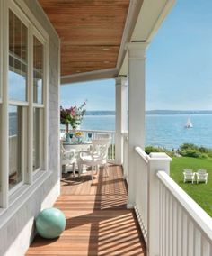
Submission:
<svg viewBox="0 0 212 256">
<path fill-rule="evenodd" d="M 36 19 L 49 34 L 49 171 L 51 175 L 0 229 L 0 255 L 22 256 L 34 232 L 34 218 L 40 209 L 52 206 L 59 195 L 58 105 L 59 105 L 59 40 L 40 10 L 37 1 L 24 0 Z M 6 210 L 5 214 L 9 211 Z M 11 214 L 11 213 L 10 213 Z M 0 216 L 1 221 L 1 216 Z"/>
</svg>

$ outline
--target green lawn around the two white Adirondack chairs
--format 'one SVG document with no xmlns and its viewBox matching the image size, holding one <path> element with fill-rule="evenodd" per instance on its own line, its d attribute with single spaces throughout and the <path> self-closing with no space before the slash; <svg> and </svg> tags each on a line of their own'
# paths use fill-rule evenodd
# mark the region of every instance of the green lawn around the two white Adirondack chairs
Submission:
<svg viewBox="0 0 212 256">
<path fill-rule="evenodd" d="M 183 169 L 207 169 L 208 184 L 183 182 Z M 172 158 L 171 177 L 212 217 L 212 158 L 196 159 L 189 157 Z"/>
</svg>

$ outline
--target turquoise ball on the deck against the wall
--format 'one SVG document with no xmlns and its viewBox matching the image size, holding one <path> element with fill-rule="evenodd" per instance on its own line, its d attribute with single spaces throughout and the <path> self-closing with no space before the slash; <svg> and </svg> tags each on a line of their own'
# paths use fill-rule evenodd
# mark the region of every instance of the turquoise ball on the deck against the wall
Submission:
<svg viewBox="0 0 212 256">
<path fill-rule="evenodd" d="M 35 224 L 40 236 L 56 238 L 65 230 L 66 217 L 59 209 L 48 208 L 40 212 Z"/>
</svg>

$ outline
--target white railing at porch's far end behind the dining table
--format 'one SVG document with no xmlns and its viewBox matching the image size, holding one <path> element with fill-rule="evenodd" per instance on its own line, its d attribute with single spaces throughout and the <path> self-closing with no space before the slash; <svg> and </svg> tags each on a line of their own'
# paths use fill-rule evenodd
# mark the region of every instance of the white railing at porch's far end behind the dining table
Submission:
<svg viewBox="0 0 212 256">
<path fill-rule="evenodd" d="M 91 138 L 88 137 L 88 133 L 92 134 L 92 139 L 97 138 L 97 134 L 109 134 L 111 137 L 111 144 L 108 151 L 108 160 L 114 161 L 115 160 L 115 131 L 99 131 L 99 130 L 77 130 L 84 133 L 84 140 L 88 141 L 91 140 Z M 74 133 L 74 131 L 70 131 L 70 133 Z M 65 129 L 61 129 L 60 133 L 66 133 Z"/>
</svg>

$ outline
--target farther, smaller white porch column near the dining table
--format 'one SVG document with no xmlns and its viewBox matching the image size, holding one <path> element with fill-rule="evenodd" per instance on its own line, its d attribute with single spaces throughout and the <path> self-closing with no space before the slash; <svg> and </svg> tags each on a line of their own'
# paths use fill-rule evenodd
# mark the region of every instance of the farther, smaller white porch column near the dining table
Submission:
<svg viewBox="0 0 212 256">
<path fill-rule="evenodd" d="M 128 129 L 128 78 L 116 78 L 116 164 L 123 163 L 123 136 Z"/>
</svg>

